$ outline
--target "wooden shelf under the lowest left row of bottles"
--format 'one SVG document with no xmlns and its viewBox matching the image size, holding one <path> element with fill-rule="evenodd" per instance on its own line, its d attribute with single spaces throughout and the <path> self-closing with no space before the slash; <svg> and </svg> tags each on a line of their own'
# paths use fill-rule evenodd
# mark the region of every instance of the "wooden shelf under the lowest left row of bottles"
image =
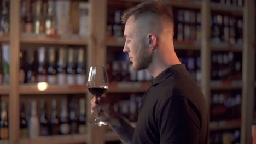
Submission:
<svg viewBox="0 0 256 144">
<path fill-rule="evenodd" d="M 86 143 L 87 135 L 57 135 L 57 136 L 40 136 L 38 139 L 21 139 L 20 144 L 54 144 L 54 143 Z"/>
</svg>

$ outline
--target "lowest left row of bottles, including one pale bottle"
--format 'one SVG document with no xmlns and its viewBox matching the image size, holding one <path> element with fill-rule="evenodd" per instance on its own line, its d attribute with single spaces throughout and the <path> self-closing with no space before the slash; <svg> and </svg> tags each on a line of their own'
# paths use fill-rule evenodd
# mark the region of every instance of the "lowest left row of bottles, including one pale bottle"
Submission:
<svg viewBox="0 0 256 144">
<path fill-rule="evenodd" d="M 79 105 L 79 112 L 78 107 Z M 31 101 L 30 105 L 25 107 L 22 104 L 20 109 L 20 135 L 21 139 L 36 139 L 47 135 L 67 135 L 67 134 L 85 134 L 86 133 L 86 107 L 85 99 L 81 98 L 79 104 L 75 101 L 61 101 L 61 113 L 57 113 L 57 101 L 51 101 L 51 116 L 48 118 L 46 103 L 40 101 L 39 115 L 37 113 L 37 102 Z M 69 110 L 69 112 L 68 112 Z"/>
</svg>

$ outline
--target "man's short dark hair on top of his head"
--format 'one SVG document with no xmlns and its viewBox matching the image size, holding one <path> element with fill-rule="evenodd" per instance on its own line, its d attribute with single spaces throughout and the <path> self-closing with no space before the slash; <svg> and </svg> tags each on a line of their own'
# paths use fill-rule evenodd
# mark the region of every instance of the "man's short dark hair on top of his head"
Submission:
<svg viewBox="0 0 256 144">
<path fill-rule="evenodd" d="M 135 7 L 127 9 L 126 11 L 124 11 L 121 17 L 121 21 L 123 24 L 125 24 L 130 16 L 134 16 L 136 19 L 137 17 L 147 13 L 167 18 L 173 23 L 173 15 L 171 9 L 160 0 L 149 0 L 140 3 Z"/>
</svg>

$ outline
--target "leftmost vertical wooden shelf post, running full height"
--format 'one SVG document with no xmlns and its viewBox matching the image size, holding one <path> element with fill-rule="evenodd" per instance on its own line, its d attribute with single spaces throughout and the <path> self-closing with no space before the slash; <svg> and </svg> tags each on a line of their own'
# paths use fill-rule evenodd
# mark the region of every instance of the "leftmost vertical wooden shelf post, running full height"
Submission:
<svg viewBox="0 0 256 144">
<path fill-rule="evenodd" d="M 9 143 L 19 140 L 20 0 L 10 1 Z"/>
</svg>

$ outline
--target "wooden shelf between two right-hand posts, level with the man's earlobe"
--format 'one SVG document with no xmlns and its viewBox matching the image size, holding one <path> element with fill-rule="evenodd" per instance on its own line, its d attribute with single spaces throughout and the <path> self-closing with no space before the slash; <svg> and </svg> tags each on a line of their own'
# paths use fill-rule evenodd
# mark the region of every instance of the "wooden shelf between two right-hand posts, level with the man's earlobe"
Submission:
<svg viewBox="0 0 256 144">
<path fill-rule="evenodd" d="M 211 44 L 212 51 L 243 52 L 243 45 Z"/>
</svg>

